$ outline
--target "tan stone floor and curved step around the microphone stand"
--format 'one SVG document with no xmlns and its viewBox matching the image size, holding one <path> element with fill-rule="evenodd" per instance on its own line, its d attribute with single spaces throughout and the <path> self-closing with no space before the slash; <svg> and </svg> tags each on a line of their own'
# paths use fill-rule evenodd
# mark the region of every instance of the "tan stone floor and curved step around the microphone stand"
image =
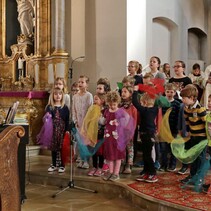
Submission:
<svg viewBox="0 0 211 211">
<path fill-rule="evenodd" d="M 53 172 L 47 169 L 51 164 L 51 157 L 44 155 L 26 157 L 26 197 L 22 204 L 22 211 L 72 211 L 72 210 L 137 210 L 137 211 L 177 211 L 186 210 L 175 204 L 164 203 L 150 196 L 131 189 L 128 184 L 134 183 L 140 168 L 133 168 L 131 175 L 120 175 L 120 180 L 104 181 L 100 177 L 87 176 L 88 170 L 79 169 L 73 164 L 72 177 L 70 165 L 66 166 L 65 173 Z M 68 184 L 73 180 L 74 185 L 89 190 L 91 193 L 75 188 Z M 67 190 L 52 196 L 68 187 Z M 63 189 L 62 189 L 63 188 Z"/>
</svg>

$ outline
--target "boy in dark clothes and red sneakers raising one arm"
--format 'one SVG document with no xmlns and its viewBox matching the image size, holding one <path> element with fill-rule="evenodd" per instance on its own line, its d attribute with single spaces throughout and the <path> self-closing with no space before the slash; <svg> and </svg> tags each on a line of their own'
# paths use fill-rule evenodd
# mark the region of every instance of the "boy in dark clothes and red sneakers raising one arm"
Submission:
<svg viewBox="0 0 211 211">
<path fill-rule="evenodd" d="M 140 113 L 140 138 L 143 148 L 144 169 L 140 172 L 138 181 L 157 182 L 156 169 L 152 158 L 152 148 L 155 144 L 156 125 L 155 119 L 158 115 L 158 107 L 154 106 L 155 96 L 144 93 L 141 97 L 141 104 L 138 101 L 138 86 L 134 87 L 132 95 L 133 105 Z"/>
</svg>

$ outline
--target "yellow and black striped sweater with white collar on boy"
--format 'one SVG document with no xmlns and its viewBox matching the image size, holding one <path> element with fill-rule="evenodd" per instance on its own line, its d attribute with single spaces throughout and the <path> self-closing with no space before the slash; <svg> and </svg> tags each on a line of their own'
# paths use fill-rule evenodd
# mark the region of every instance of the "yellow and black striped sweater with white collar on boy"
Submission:
<svg viewBox="0 0 211 211">
<path fill-rule="evenodd" d="M 187 131 L 191 136 L 206 137 L 205 121 L 206 108 L 202 107 L 198 101 L 192 107 L 184 108 Z"/>
</svg>

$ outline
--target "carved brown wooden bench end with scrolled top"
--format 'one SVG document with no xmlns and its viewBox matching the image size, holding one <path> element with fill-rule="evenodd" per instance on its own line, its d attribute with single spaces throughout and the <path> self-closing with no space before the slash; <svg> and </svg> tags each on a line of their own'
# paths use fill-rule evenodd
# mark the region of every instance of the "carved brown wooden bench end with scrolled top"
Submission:
<svg viewBox="0 0 211 211">
<path fill-rule="evenodd" d="M 9 126 L 0 133 L 1 211 L 21 210 L 18 146 L 24 134 L 24 128 L 21 126 Z"/>
</svg>

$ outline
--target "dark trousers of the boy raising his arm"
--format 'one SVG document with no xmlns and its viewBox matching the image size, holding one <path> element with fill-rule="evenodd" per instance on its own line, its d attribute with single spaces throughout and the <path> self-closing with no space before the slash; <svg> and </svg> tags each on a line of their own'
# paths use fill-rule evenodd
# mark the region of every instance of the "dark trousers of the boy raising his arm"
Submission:
<svg viewBox="0 0 211 211">
<path fill-rule="evenodd" d="M 152 159 L 152 147 L 154 146 L 154 135 L 153 134 L 141 134 L 142 148 L 143 148 L 143 161 L 144 161 L 144 172 L 149 175 L 155 175 L 156 170 Z"/>
</svg>

